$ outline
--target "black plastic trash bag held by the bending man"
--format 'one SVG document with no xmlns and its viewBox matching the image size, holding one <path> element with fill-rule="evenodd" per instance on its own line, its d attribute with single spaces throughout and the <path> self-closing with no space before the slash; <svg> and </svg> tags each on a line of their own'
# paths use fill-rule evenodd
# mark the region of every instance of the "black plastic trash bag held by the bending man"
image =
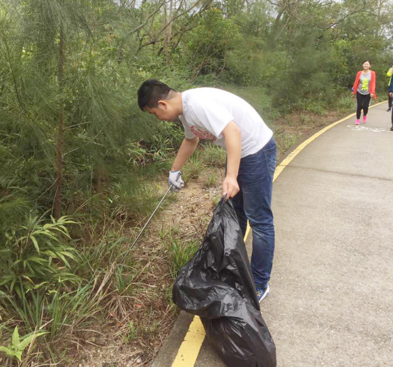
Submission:
<svg viewBox="0 0 393 367">
<path fill-rule="evenodd" d="M 218 203 L 202 245 L 176 278 L 173 300 L 200 317 L 227 366 L 276 367 L 232 203 Z"/>
</svg>

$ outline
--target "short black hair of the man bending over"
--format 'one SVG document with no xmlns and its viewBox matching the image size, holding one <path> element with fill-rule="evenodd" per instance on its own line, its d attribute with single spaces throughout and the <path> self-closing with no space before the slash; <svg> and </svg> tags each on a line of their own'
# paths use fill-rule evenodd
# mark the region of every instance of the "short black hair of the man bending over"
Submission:
<svg viewBox="0 0 393 367">
<path fill-rule="evenodd" d="M 156 79 L 144 81 L 138 90 L 138 105 L 144 111 L 146 107 L 157 107 L 159 100 L 165 100 L 173 90 L 165 83 Z M 175 90 L 173 90 L 175 91 Z"/>
</svg>

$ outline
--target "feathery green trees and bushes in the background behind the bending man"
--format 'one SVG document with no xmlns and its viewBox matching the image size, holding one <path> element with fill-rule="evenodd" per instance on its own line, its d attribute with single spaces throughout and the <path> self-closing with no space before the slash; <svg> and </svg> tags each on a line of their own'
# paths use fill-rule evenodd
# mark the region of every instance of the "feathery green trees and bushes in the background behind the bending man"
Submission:
<svg viewBox="0 0 393 367">
<path fill-rule="evenodd" d="M 260 87 L 286 112 L 329 105 L 365 58 L 386 89 L 392 34 L 388 0 L 0 0 L 2 223 L 72 213 L 138 149 L 176 144 L 136 106 L 146 78 Z"/>
</svg>

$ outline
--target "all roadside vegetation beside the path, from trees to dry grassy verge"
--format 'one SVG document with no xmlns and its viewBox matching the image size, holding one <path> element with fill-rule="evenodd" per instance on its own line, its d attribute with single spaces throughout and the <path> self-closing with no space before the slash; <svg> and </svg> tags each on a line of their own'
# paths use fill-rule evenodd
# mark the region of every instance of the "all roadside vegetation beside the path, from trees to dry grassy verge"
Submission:
<svg viewBox="0 0 393 367">
<path fill-rule="evenodd" d="M 149 366 L 168 333 L 225 152 L 200 144 L 195 198 L 131 248 L 183 139 L 139 111 L 146 78 L 240 95 L 280 156 L 354 109 L 364 59 L 384 95 L 392 21 L 387 0 L 0 0 L 0 365 Z"/>
</svg>

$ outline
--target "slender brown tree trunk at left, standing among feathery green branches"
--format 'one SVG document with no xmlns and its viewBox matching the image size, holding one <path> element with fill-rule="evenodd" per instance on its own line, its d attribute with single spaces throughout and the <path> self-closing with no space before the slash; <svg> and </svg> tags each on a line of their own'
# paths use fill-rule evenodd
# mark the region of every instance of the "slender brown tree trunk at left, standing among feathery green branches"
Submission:
<svg viewBox="0 0 393 367">
<path fill-rule="evenodd" d="M 64 63 L 65 63 L 65 40 L 63 26 L 60 26 L 60 42 L 59 42 L 59 125 L 58 136 L 56 140 L 56 184 L 55 184 L 55 199 L 54 199 L 54 217 L 61 216 L 61 198 L 63 186 L 63 132 L 64 132 Z"/>
</svg>

